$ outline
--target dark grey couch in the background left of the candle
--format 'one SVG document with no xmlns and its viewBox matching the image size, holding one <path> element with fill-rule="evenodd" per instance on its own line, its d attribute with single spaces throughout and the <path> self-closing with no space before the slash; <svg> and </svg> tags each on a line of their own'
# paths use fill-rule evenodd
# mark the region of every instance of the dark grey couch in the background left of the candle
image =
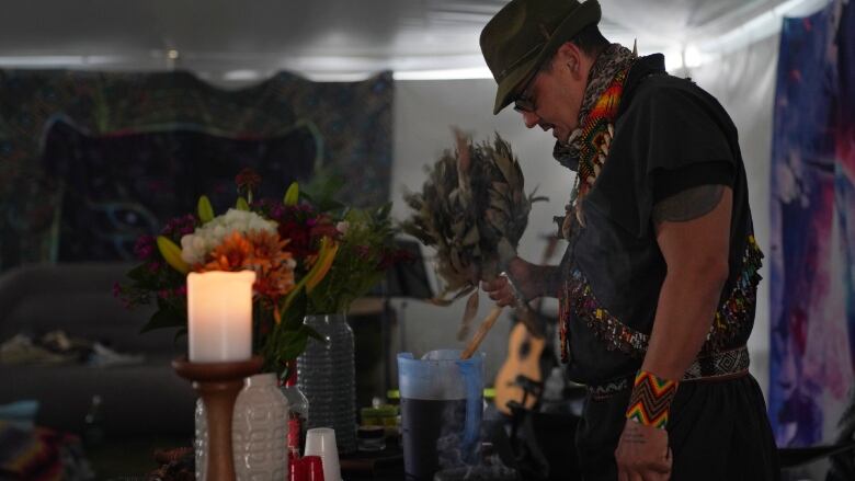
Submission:
<svg viewBox="0 0 855 481">
<path fill-rule="evenodd" d="M 192 436 L 195 396 L 170 360 L 186 351 L 174 332 L 139 333 L 150 310 L 127 310 L 112 287 L 126 264 L 55 264 L 0 274 L 0 342 L 62 330 L 112 350 L 141 354 L 141 364 L 116 367 L 0 365 L 0 404 L 35 399 L 36 424 L 82 433 L 93 396 L 102 399 L 109 437 Z"/>
</svg>

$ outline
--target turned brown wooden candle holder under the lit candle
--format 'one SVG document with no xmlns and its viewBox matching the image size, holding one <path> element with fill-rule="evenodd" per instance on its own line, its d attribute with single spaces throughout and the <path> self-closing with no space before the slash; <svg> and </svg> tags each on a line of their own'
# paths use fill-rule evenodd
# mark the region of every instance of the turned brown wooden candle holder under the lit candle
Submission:
<svg viewBox="0 0 855 481">
<path fill-rule="evenodd" d="M 264 360 L 254 356 L 226 363 L 192 363 L 186 357 L 172 362 L 179 376 L 193 382 L 205 403 L 208 423 L 208 481 L 235 481 L 231 449 L 231 417 L 243 379 L 261 370 Z"/>
</svg>

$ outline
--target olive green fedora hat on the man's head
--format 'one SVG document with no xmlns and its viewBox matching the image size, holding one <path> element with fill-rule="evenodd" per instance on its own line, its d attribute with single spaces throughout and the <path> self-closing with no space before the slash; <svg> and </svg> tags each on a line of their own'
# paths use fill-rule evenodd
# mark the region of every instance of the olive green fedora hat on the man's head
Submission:
<svg viewBox="0 0 855 481">
<path fill-rule="evenodd" d="M 600 16 L 596 0 L 512 0 L 504 5 L 481 31 L 481 54 L 498 83 L 493 114 L 512 102 L 548 56 Z"/>
</svg>

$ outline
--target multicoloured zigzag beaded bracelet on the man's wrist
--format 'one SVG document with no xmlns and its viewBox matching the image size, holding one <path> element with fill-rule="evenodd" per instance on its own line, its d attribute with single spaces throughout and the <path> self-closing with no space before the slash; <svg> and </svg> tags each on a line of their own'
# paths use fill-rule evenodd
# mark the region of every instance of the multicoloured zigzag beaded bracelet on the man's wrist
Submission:
<svg viewBox="0 0 855 481">
<path fill-rule="evenodd" d="M 639 370 L 629 398 L 626 419 L 645 426 L 664 430 L 677 385 L 677 381 L 662 379 L 647 370 Z"/>
</svg>

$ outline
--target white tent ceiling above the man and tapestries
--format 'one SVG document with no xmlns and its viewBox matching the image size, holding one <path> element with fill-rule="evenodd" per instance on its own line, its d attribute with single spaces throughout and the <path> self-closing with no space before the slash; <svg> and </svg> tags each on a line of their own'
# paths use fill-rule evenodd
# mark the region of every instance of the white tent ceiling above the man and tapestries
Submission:
<svg viewBox="0 0 855 481">
<path fill-rule="evenodd" d="M 556 1 L 556 0 L 543 0 Z M 0 67 L 150 70 L 214 81 L 277 70 L 347 80 L 481 77 L 478 35 L 504 0 L 25 0 L 0 15 Z M 601 0 L 613 41 L 672 60 L 768 36 L 823 0 Z M 753 23 L 752 23 L 753 22 Z M 753 25 L 753 27 L 751 27 Z M 173 50 L 170 53 L 170 50 Z M 673 55 L 677 54 L 677 55 Z M 173 58 L 175 57 L 175 58 Z M 688 59 L 699 61 L 699 59 Z M 673 64 L 672 64 L 673 65 Z M 438 73 L 436 71 L 440 71 Z"/>
</svg>

